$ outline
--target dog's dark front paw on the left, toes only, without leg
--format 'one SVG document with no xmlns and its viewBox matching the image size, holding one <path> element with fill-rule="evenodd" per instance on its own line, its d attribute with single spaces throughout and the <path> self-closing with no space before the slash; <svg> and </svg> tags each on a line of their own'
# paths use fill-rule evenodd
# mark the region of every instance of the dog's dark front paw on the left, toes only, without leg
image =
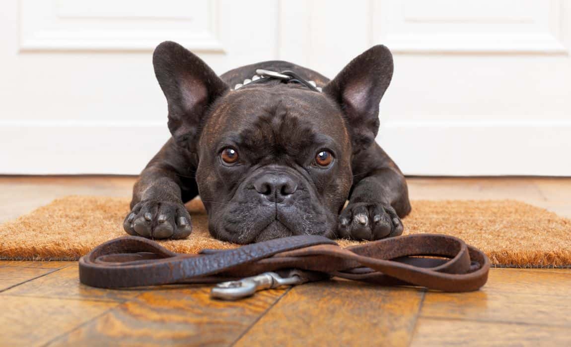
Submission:
<svg viewBox="0 0 571 347">
<path fill-rule="evenodd" d="M 192 232 L 182 203 L 144 200 L 133 206 L 123 222 L 127 234 L 154 239 L 183 239 Z"/>
</svg>

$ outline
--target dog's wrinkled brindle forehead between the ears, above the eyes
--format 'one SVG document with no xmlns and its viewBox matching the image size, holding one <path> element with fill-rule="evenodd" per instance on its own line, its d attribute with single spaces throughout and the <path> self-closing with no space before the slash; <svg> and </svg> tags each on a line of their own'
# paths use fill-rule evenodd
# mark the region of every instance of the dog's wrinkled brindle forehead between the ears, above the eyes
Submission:
<svg viewBox="0 0 571 347">
<path fill-rule="evenodd" d="M 282 145 L 295 149 L 316 142 L 333 142 L 339 148 L 349 145 L 335 103 L 320 93 L 291 88 L 230 92 L 214 105 L 203 134 L 211 148 L 225 140 L 252 148 Z"/>
</svg>

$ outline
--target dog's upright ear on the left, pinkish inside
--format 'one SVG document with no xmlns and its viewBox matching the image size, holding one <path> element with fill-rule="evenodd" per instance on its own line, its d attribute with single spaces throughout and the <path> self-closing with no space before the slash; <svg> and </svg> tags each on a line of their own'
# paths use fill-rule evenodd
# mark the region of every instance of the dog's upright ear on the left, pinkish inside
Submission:
<svg viewBox="0 0 571 347">
<path fill-rule="evenodd" d="M 228 85 L 198 56 L 175 42 L 159 44 L 152 64 L 168 102 L 168 129 L 177 144 L 196 152 L 204 113 Z"/>
</svg>

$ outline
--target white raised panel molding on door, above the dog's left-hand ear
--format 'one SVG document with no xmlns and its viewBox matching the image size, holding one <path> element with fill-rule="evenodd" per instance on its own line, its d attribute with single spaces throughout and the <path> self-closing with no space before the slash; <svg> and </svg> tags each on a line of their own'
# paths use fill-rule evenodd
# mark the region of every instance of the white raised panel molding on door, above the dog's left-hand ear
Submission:
<svg viewBox="0 0 571 347">
<path fill-rule="evenodd" d="M 194 14 L 208 18 L 206 27 L 193 30 L 186 26 L 192 21 L 182 15 L 178 18 L 59 16 L 55 0 L 22 0 L 19 48 L 24 52 L 152 51 L 159 42 L 174 40 L 195 52 L 224 53 L 219 32 L 219 2 L 207 1 L 206 6 L 208 13 Z M 95 27 L 91 25 L 94 20 L 98 21 Z M 122 27 L 107 27 L 106 21 Z"/>
</svg>

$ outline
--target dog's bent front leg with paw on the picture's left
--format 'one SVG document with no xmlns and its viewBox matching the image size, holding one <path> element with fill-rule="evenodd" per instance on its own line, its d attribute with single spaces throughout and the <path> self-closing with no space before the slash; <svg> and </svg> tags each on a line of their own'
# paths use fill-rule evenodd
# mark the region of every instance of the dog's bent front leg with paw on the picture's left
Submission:
<svg viewBox="0 0 571 347">
<path fill-rule="evenodd" d="M 189 194 L 191 192 L 183 191 L 181 185 L 184 182 L 172 168 L 151 162 L 133 187 L 131 211 L 123 222 L 125 231 L 155 239 L 180 239 L 190 235 L 191 219 L 182 197 L 187 195 L 184 197 L 188 200 L 198 191 Z"/>
</svg>

